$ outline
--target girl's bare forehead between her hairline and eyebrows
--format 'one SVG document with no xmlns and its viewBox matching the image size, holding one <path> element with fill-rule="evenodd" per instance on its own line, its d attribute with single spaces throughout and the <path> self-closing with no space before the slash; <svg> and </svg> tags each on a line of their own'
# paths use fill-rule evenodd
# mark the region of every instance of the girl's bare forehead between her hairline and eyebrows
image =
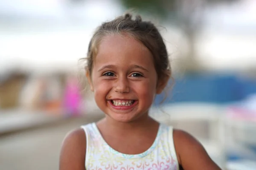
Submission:
<svg viewBox="0 0 256 170">
<path fill-rule="evenodd" d="M 142 42 L 127 35 L 109 35 L 102 39 L 98 47 L 94 65 L 113 64 L 129 65 L 141 64 L 154 67 L 151 52 Z"/>
</svg>

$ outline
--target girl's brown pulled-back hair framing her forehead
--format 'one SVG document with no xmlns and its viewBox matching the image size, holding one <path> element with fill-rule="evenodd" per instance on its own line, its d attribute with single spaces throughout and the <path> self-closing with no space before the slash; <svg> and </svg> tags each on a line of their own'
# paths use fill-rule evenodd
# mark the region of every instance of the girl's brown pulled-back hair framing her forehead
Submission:
<svg viewBox="0 0 256 170">
<path fill-rule="evenodd" d="M 135 20 L 133 20 L 132 15 L 129 13 L 109 22 L 102 23 L 96 29 L 89 43 L 87 58 L 84 58 L 87 60 L 85 68 L 90 74 L 93 68 L 93 59 L 97 55 L 102 38 L 112 34 L 126 34 L 143 43 L 154 57 L 154 66 L 158 79 L 166 76 L 171 77 L 169 56 L 160 32 L 153 23 L 142 21 L 140 15 L 137 15 Z"/>
</svg>

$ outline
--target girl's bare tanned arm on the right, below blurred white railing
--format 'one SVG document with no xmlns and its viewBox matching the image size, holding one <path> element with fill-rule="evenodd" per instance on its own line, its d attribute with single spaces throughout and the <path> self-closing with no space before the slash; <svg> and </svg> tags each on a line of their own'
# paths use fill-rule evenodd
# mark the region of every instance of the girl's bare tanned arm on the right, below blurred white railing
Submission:
<svg viewBox="0 0 256 170">
<path fill-rule="evenodd" d="M 179 164 L 184 170 L 221 170 L 189 133 L 174 130 L 173 139 Z"/>
</svg>

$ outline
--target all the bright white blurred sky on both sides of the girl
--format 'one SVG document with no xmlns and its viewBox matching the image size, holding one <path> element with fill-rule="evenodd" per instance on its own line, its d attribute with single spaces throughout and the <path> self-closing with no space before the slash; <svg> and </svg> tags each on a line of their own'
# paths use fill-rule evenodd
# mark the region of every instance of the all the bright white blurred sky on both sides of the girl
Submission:
<svg viewBox="0 0 256 170">
<path fill-rule="evenodd" d="M 118 0 L 73 2 L 1 0 L 0 73 L 14 67 L 74 70 L 78 59 L 85 57 L 96 26 L 125 11 Z M 198 59 L 204 65 L 212 70 L 256 67 L 255 0 L 207 8 L 204 20 L 196 41 Z"/>
</svg>

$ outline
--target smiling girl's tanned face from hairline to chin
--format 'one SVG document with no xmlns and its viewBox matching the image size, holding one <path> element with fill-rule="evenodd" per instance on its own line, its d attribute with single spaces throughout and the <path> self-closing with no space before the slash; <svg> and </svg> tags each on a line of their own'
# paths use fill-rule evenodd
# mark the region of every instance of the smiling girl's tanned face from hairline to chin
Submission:
<svg viewBox="0 0 256 170">
<path fill-rule="evenodd" d="M 146 116 L 155 94 L 163 90 L 157 87 L 151 52 L 141 42 L 125 35 L 104 37 L 89 75 L 96 104 L 118 122 Z"/>
</svg>

